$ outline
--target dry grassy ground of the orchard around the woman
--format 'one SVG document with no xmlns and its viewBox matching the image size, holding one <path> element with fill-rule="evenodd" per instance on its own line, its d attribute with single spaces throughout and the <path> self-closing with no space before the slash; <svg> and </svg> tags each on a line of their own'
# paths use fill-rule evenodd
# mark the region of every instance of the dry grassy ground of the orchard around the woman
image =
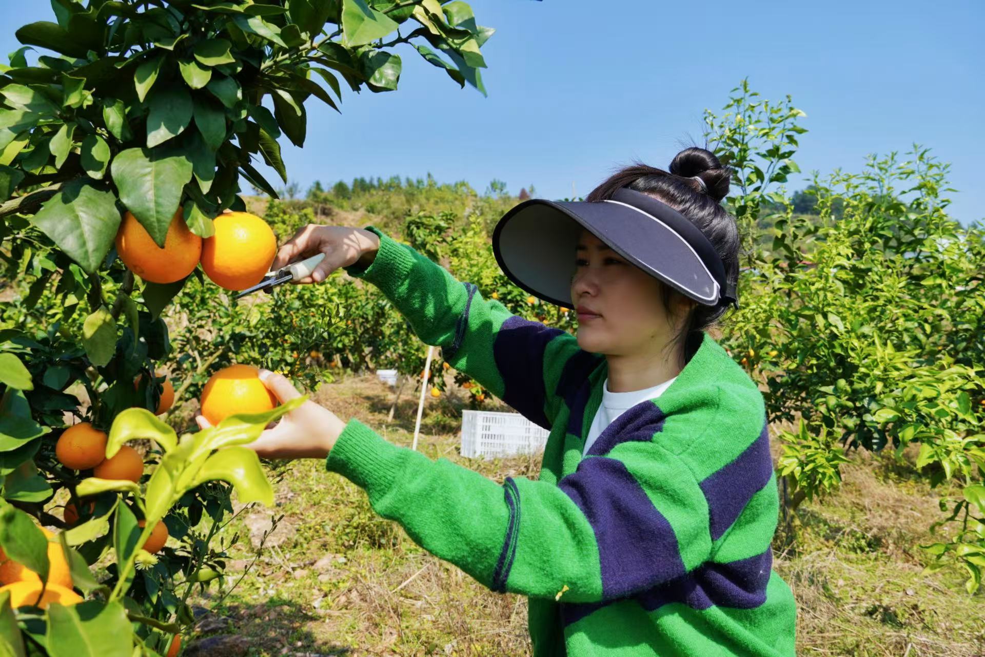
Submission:
<svg viewBox="0 0 985 657">
<path fill-rule="evenodd" d="M 459 456 L 461 403 L 450 394 L 427 399 L 422 452 L 497 482 L 536 477 L 538 457 Z M 417 394 L 405 389 L 387 423 L 392 397 L 372 376 L 350 376 L 316 394 L 340 417 L 410 446 Z M 775 439 L 773 447 L 775 455 Z M 802 505 L 792 547 L 782 547 L 782 531 L 774 541 L 774 568 L 798 600 L 798 654 L 985 655 L 982 595 L 969 598 L 956 572 L 920 575 L 925 561 L 915 546 L 931 541 L 940 490 L 928 490 L 908 465 L 912 455 L 902 465 L 865 453 L 855 460 L 843 468 L 839 493 Z M 292 464 L 277 491 L 274 513 L 283 518 L 259 558 L 251 541 L 271 528 L 269 510 L 243 509 L 225 530 L 241 537 L 225 588 L 195 601 L 229 619 L 213 623 L 212 633 L 246 637 L 250 655 L 529 654 L 525 599 L 495 594 L 429 556 L 398 525 L 374 516 L 365 494 L 326 473 L 323 462 Z"/>
</svg>

